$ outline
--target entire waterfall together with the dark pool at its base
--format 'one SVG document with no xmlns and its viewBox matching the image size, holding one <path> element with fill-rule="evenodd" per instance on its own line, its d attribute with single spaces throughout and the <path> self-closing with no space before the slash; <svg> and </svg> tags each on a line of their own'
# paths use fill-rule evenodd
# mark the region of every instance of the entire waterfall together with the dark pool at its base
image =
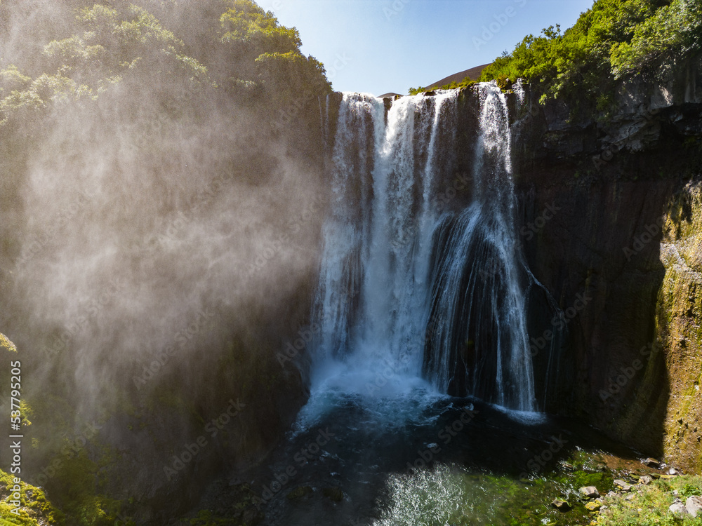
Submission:
<svg viewBox="0 0 702 526">
<path fill-rule="evenodd" d="M 255 477 L 265 526 L 510 524 L 525 500 L 544 507 L 562 488 L 522 482 L 554 437 L 567 436 L 565 455 L 583 433 L 533 412 L 525 297 L 549 297 L 516 234 L 505 95 L 475 89 L 327 100 L 333 202 L 311 392 Z M 456 155 L 471 138 L 475 152 Z M 463 194 L 446 207 L 459 169 Z M 560 512 L 528 513 L 520 524 Z"/>
</svg>

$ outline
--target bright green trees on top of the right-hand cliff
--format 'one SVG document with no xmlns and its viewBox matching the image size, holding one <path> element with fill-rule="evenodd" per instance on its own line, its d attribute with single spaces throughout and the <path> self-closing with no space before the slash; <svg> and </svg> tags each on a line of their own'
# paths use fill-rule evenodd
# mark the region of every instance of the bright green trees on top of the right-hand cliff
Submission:
<svg viewBox="0 0 702 526">
<path fill-rule="evenodd" d="M 576 24 L 525 37 L 486 67 L 480 81 L 526 79 L 544 94 L 609 109 L 616 80 L 654 76 L 699 52 L 699 0 L 597 0 Z"/>
</svg>

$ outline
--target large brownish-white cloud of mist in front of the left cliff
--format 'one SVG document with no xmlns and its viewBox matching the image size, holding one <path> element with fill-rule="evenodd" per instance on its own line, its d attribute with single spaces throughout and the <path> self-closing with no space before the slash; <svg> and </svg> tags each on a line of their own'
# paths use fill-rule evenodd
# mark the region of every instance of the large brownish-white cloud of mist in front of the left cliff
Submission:
<svg viewBox="0 0 702 526">
<path fill-rule="evenodd" d="M 34 412 L 26 481 L 65 497 L 45 466 L 93 425 L 76 456 L 100 464 L 99 443 L 120 459 L 111 473 L 139 466 L 105 490 L 146 503 L 191 484 L 162 466 L 229 400 L 246 407 L 237 454 L 265 451 L 291 418 L 276 397 L 291 382 L 303 396 L 300 372 L 274 355 L 307 321 L 326 194 L 317 137 L 281 121 L 280 91 L 227 87 L 248 56 L 202 40 L 232 3 L 137 4 L 0 4 L 0 326 Z M 125 13 L 141 25 L 91 31 Z M 113 42 L 122 29 L 140 31 L 133 48 Z M 271 367 L 278 384 L 260 385 Z"/>
</svg>

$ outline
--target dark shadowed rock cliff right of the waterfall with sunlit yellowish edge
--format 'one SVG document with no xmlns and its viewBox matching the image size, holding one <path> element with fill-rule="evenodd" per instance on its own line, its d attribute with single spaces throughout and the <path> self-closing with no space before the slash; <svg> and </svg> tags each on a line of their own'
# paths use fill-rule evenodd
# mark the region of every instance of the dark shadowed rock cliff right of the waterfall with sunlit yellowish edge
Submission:
<svg viewBox="0 0 702 526">
<path fill-rule="evenodd" d="M 695 471 L 701 81 L 697 61 L 661 85 L 624 85 L 607 124 L 527 93 L 515 125 L 524 250 L 569 321 L 548 409 Z"/>
</svg>

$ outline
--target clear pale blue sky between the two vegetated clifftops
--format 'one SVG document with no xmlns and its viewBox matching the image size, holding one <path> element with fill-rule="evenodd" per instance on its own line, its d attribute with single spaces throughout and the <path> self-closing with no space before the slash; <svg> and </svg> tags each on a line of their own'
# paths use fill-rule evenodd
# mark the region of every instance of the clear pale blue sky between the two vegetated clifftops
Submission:
<svg viewBox="0 0 702 526">
<path fill-rule="evenodd" d="M 594 0 L 259 0 L 297 27 L 338 91 L 407 93 L 571 27 Z"/>
</svg>

